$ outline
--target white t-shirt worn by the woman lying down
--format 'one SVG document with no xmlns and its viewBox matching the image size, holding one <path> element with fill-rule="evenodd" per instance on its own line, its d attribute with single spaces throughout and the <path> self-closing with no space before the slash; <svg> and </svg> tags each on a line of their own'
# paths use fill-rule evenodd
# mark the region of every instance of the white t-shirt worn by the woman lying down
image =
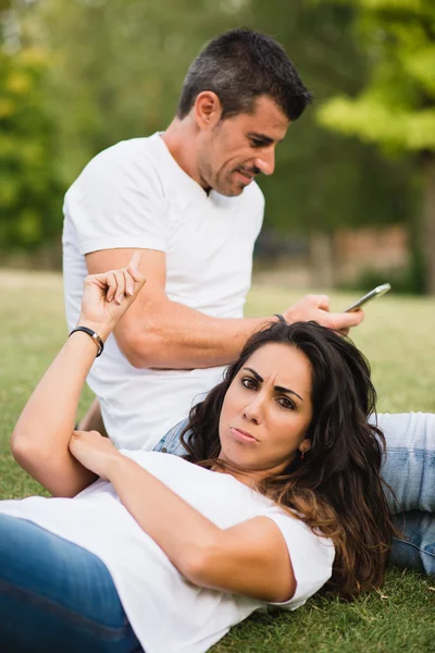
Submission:
<svg viewBox="0 0 435 653">
<path fill-rule="evenodd" d="M 170 454 L 123 453 L 220 528 L 260 515 L 272 519 L 286 541 L 297 581 L 295 595 L 278 604 L 281 607 L 299 607 L 331 578 L 335 554 L 332 542 L 315 535 L 302 521 L 232 476 Z M 202 653 L 232 626 L 265 606 L 257 599 L 186 581 L 107 481 L 97 481 L 75 498 L 3 501 L 0 512 L 28 519 L 97 555 L 108 567 L 147 653 Z"/>
</svg>

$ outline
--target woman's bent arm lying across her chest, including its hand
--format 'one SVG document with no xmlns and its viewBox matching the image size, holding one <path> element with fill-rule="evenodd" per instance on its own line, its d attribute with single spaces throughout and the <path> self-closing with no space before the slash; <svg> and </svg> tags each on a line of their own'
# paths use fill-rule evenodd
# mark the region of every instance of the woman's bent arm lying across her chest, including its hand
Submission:
<svg viewBox="0 0 435 653">
<path fill-rule="evenodd" d="M 256 517 L 221 529 L 107 439 L 76 433 L 70 447 L 84 466 L 114 485 L 127 510 L 187 580 L 262 601 L 291 599 L 291 562 L 271 519 Z"/>
</svg>

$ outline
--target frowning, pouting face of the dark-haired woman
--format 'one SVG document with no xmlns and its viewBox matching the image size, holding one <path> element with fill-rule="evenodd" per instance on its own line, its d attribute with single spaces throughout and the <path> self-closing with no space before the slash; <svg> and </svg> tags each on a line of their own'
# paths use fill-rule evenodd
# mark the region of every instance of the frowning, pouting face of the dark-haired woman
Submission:
<svg viewBox="0 0 435 653">
<path fill-rule="evenodd" d="M 220 458 L 256 476 L 284 470 L 308 451 L 311 364 L 291 345 L 263 345 L 245 362 L 222 406 Z"/>
</svg>

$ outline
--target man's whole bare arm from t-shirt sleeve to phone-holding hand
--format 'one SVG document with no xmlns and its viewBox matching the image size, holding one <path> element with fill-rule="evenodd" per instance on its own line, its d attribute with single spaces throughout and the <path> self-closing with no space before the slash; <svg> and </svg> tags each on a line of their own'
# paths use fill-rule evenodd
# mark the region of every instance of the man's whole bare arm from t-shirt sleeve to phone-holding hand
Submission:
<svg viewBox="0 0 435 653">
<path fill-rule="evenodd" d="M 86 256 L 90 274 L 125 267 L 132 249 L 108 249 Z M 240 353 L 247 338 L 266 325 L 272 317 L 211 318 L 165 294 L 165 255 L 142 249 L 141 271 L 148 282 L 130 310 L 117 324 L 114 335 L 136 368 L 194 369 L 227 365 Z M 327 297 L 313 295 L 284 311 L 289 322 L 315 320 L 332 329 L 349 329 L 362 320 L 361 312 L 330 313 Z"/>
</svg>

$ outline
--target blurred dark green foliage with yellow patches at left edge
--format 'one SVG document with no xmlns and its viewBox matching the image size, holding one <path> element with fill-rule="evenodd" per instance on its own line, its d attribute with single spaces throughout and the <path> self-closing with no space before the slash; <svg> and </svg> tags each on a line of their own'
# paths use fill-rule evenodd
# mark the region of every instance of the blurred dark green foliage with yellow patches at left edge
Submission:
<svg viewBox="0 0 435 653">
<path fill-rule="evenodd" d="M 0 50 L 0 248 L 32 249 L 58 232 L 62 182 L 45 109 L 47 53 Z"/>
</svg>

